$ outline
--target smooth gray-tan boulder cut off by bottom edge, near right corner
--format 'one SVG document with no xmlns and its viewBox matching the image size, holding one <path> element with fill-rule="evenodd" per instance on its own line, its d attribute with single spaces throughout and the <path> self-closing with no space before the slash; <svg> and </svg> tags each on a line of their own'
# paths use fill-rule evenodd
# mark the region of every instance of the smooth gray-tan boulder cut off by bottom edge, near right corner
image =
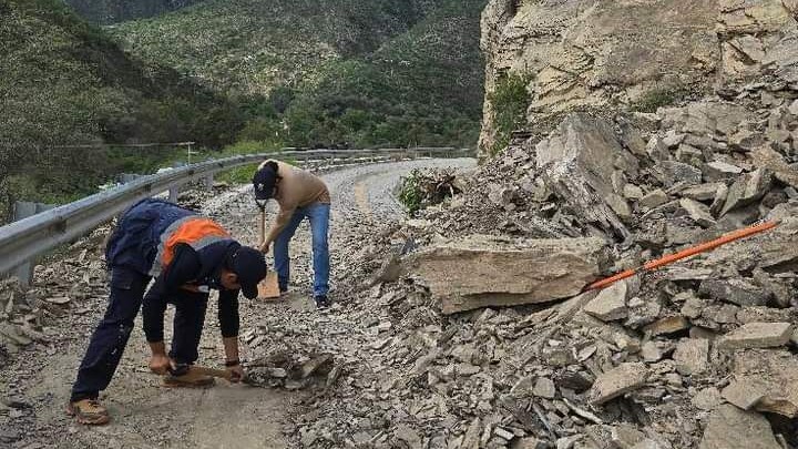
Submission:
<svg viewBox="0 0 798 449">
<path fill-rule="evenodd" d="M 709 416 L 699 449 L 780 449 L 761 415 L 723 405 Z"/>
</svg>

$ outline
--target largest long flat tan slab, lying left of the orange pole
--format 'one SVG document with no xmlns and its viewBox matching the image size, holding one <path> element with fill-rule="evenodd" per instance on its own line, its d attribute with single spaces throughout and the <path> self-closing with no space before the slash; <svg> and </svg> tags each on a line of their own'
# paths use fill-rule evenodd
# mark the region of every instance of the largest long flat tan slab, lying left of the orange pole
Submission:
<svg viewBox="0 0 798 449">
<path fill-rule="evenodd" d="M 606 264 L 601 238 L 501 241 L 472 235 L 416 253 L 408 271 L 443 313 L 545 303 L 579 295 Z"/>
</svg>

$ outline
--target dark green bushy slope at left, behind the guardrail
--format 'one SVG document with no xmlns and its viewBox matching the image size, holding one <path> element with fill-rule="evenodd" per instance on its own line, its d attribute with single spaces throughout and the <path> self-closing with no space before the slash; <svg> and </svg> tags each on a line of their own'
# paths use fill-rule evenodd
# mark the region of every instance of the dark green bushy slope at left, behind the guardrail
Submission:
<svg viewBox="0 0 798 449">
<path fill-rule="evenodd" d="M 16 198 L 65 201 L 170 156 L 63 145 L 222 146 L 242 125 L 226 99 L 131 58 L 60 0 L 0 0 L 0 217 Z"/>
</svg>

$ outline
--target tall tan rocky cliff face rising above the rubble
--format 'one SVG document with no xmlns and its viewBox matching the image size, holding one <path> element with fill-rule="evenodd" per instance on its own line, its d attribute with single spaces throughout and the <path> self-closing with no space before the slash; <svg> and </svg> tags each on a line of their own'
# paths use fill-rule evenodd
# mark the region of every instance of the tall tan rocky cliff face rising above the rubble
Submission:
<svg viewBox="0 0 798 449">
<path fill-rule="evenodd" d="M 654 112 L 764 79 L 795 89 L 796 16 L 796 0 L 492 0 L 480 146 L 507 139 L 495 94 L 511 76 L 526 90 L 522 127 L 541 133 L 573 110 Z"/>
</svg>

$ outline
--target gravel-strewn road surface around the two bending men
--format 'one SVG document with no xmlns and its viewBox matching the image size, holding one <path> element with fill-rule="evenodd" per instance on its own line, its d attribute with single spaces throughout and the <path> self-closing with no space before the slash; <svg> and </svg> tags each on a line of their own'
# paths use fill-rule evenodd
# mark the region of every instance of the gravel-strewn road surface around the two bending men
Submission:
<svg viewBox="0 0 798 449">
<path fill-rule="evenodd" d="M 416 167 L 472 167 L 473 160 L 422 160 L 360 166 L 324 175 L 332 192 L 331 258 L 334 300 L 348 290 L 346 273 L 351 251 L 362 246 L 388 222 L 402 218 L 391 192 L 400 176 Z M 243 243 L 258 241 L 257 210 L 248 188 L 219 195 L 186 195 L 218 220 Z M 272 211 L 270 215 L 273 215 Z M 101 261 L 109 227 L 73 245 L 68 255 L 38 267 L 35 287 L 27 295 L 41 300 L 43 325 L 35 341 L 10 355 L 0 368 L 0 448 L 287 448 L 300 445 L 289 417 L 306 416 L 308 390 L 257 388 L 218 382 L 208 390 L 160 387 L 147 373 L 149 349 L 141 323 L 111 387 L 103 394 L 113 421 L 101 428 L 75 425 L 63 412 L 76 366 L 91 331 L 104 312 L 108 288 Z M 300 226 L 293 242 L 293 294 L 276 303 L 242 303 L 243 358 L 274 354 L 279 345 L 295 353 L 346 354 L 368 340 L 364 324 L 350 319 L 346 307 L 319 314 L 311 306 L 309 228 Z M 270 258 L 270 257 L 269 257 Z M 48 298 L 69 297 L 63 305 Z M 223 361 L 221 336 L 213 310 L 206 319 L 200 363 Z M 170 318 L 167 317 L 167 320 Z M 167 331 L 171 326 L 166 326 Z M 259 337 L 259 338 L 257 338 Z M 168 338 L 168 337 L 167 337 Z M 279 344 L 269 345 L 269 340 Z M 2 360 L 2 358 L 0 358 Z"/>
</svg>

